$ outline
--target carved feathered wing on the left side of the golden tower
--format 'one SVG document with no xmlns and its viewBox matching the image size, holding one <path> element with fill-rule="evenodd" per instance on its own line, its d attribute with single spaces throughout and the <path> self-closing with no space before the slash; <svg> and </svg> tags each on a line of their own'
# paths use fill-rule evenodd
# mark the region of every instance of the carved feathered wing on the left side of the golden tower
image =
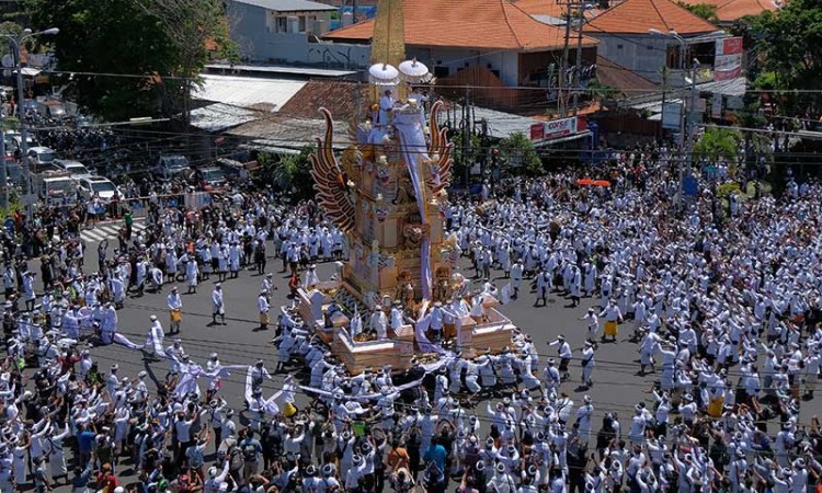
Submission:
<svg viewBox="0 0 822 493">
<path fill-rule="evenodd" d="M 317 202 L 331 220 L 343 232 L 354 227 L 355 207 L 349 194 L 349 177 L 336 161 L 333 151 L 334 122 L 324 107 L 320 113 L 326 118 L 326 137 L 317 139 L 317 152 L 311 156 L 311 176 L 317 192 Z"/>
</svg>

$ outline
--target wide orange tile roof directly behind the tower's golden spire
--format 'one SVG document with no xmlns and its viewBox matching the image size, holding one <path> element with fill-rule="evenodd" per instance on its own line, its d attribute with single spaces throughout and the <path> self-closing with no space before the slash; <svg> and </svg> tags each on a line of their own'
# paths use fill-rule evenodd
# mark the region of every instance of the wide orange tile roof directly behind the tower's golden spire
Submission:
<svg viewBox="0 0 822 493">
<path fill-rule="evenodd" d="M 562 47 L 564 30 L 543 24 L 509 0 L 404 0 L 406 44 L 541 51 Z M 374 21 L 326 34 L 332 41 L 366 42 Z M 596 39 L 585 36 L 584 46 Z"/>
</svg>

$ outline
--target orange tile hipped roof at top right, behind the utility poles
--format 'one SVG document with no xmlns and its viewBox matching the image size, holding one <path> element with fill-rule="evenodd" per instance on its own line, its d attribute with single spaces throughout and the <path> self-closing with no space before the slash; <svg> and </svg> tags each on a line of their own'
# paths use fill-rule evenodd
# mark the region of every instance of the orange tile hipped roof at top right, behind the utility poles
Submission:
<svg viewBox="0 0 822 493">
<path fill-rule="evenodd" d="M 648 34 L 648 30 L 678 34 L 717 31 L 717 26 L 670 0 L 625 0 L 594 18 L 585 26 L 590 34 Z"/>
</svg>

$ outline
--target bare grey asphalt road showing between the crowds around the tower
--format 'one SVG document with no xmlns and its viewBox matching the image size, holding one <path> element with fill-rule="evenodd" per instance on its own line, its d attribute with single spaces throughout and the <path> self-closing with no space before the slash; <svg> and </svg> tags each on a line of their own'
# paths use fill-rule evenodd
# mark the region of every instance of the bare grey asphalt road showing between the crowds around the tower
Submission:
<svg viewBox="0 0 822 493">
<path fill-rule="evenodd" d="M 85 260 L 87 268 L 96 265 L 96 246 L 89 244 Z M 466 264 L 467 265 L 467 264 Z M 93 267 L 91 267 L 93 268 Z M 277 259 L 269 260 L 269 272 L 274 272 L 275 286 L 278 290 L 274 293 L 271 305 L 273 308 L 288 302 L 286 295 L 287 276 L 278 273 L 282 263 Z M 330 277 L 333 265 L 331 263 L 320 264 L 318 274 L 321 280 Z M 464 275 L 469 277 L 472 270 L 464 270 Z M 494 275 L 501 275 L 496 272 Z M 224 365 L 253 364 L 255 359 L 263 358 L 265 366 L 272 374 L 277 364 L 277 351 L 271 344 L 274 336 L 274 325 L 269 331 L 259 331 L 256 311 L 256 296 L 263 277 L 253 272 L 241 272 L 239 278 L 228 279 L 222 284 L 226 305 L 226 325 L 209 325 L 212 302 L 210 294 L 214 288 L 213 276 L 210 280 L 201 284 L 196 294 L 186 295 L 183 283 L 179 285 L 183 298 L 183 322 L 180 337 L 182 345 L 192 360 L 205 366 L 208 355 L 213 352 L 219 354 Z M 505 280 L 496 282 L 498 287 L 504 286 Z M 584 299 L 578 308 L 569 308 L 569 301 L 557 295 L 551 295 L 546 307 L 535 308 L 535 296 L 525 287 L 521 290 L 520 299 L 502 308 L 524 332 L 530 334 L 538 344 L 540 353 L 540 375 L 547 357 L 556 357 L 556 348 L 548 347 L 546 343 L 556 339 L 558 334 L 564 334 L 574 349 L 574 356 L 581 352 L 585 339 L 586 328 L 579 318 L 595 300 Z M 168 310 L 165 308 L 165 296 L 170 286 L 161 294 L 146 294 L 141 297 L 128 297 L 125 307 L 118 311 L 118 330 L 129 340 L 142 343 L 150 326 L 149 316 L 157 314 L 163 322 L 168 332 Z M 274 322 L 272 311 L 272 322 Z M 584 390 L 578 388 L 580 381 L 580 363 L 574 360 L 571 366 L 571 379 L 563 383 L 562 390 L 567 391 L 576 405 L 582 403 L 585 393 L 593 399 L 595 419 L 593 429 L 598 429 L 601 420 L 606 412 L 617 412 L 620 416 L 623 427 L 629 425 L 632 408 L 640 401 L 651 405 L 653 397 L 648 393 L 658 376 L 649 375 L 640 377 L 638 353 L 636 344 L 627 341 L 630 336 L 627 325 L 620 329 L 617 343 L 601 344 L 596 352 L 596 368 L 593 374 L 594 387 Z M 167 335 L 167 345 L 171 344 L 171 336 Z M 156 382 L 165 377 L 168 364 L 165 362 L 145 360 L 139 351 L 133 351 L 118 345 L 92 348 L 93 358 L 99 362 L 100 369 L 107 372 L 113 363 L 119 364 L 122 376 L 136 376 L 140 370 L 147 370 L 149 377 Z M 733 372 L 733 371 L 732 371 Z M 265 397 L 273 393 L 282 385 L 282 375 L 275 376 L 274 382 L 266 382 Z M 734 379 L 735 381 L 735 379 Z M 152 385 L 149 385 L 152 387 Z M 244 388 L 244 372 L 233 372 L 227 379 L 220 393 L 230 405 L 239 412 L 242 410 L 242 394 Z M 205 387 L 203 387 L 205 391 Z M 305 395 L 298 395 L 298 405 L 307 402 Z M 801 422 L 810 426 L 812 415 L 820 412 L 820 399 L 802 404 Z M 477 413 L 484 415 L 484 403 L 480 404 Z M 575 415 L 575 409 L 573 411 Z M 242 419 L 241 419 L 242 421 Z M 487 432 L 490 423 L 482 423 L 482 429 Z M 593 444 L 592 444 L 593 445 Z M 213 450 L 210 446 L 208 450 Z M 125 460 L 117 471 L 119 477 L 128 481 L 133 478 L 129 469 L 130 462 Z M 60 486 L 56 491 L 68 492 L 67 486 Z"/>
</svg>

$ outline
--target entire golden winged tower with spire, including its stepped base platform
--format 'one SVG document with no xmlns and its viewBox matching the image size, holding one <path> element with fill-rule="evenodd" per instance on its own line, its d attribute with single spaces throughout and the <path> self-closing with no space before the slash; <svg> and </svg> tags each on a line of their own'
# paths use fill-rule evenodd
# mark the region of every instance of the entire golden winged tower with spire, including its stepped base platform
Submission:
<svg viewBox="0 0 822 493">
<path fill-rule="evenodd" d="M 447 200 L 453 145 L 437 124 L 441 102 L 425 115 L 419 102 L 407 100 L 406 84 L 429 73 L 416 60 L 402 61 L 402 0 L 379 0 L 368 70 L 372 114 L 367 121 L 350 123 L 354 144 L 338 161 L 332 150 L 333 119 L 320 108 L 326 133 L 311 157 L 317 200 L 326 217 L 346 233 L 349 261 L 339 279 L 310 293 L 299 289 L 298 306 L 301 317 L 313 321 L 317 334 L 353 372 L 384 364 L 408 368 L 414 353 L 439 357 L 446 351 L 425 335 L 424 308 L 452 296 L 456 245 L 444 241 L 442 207 Z M 385 95 L 387 89 L 393 98 Z M 342 307 L 333 316 L 328 310 L 332 300 Z M 346 330 L 355 330 L 351 317 L 377 309 L 388 312 L 388 305 L 396 301 L 408 316 L 397 331 L 377 336 Z M 482 317 L 465 314 L 456 323 L 452 339 L 464 347 L 464 355 L 481 347 L 499 351 L 511 343 L 515 328 L 494 305 L 495 300 L 483 301 Z"/>
</svg>

